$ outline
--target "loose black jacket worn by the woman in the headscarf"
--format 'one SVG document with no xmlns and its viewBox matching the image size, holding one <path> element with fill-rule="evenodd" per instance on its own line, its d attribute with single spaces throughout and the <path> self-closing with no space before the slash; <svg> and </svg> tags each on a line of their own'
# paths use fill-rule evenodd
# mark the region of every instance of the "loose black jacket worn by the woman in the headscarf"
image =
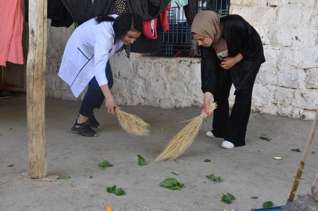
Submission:
<svg viewBox="0 0 318 211">
<path fill-rule="evenodd" d="M 210 92 L 213 95 L 218 94 L 226 71 L 230 71 L 236 92 L 239 92 L 254 83 L 260 65 L 265 62 L 261 38 L 246 20 L 239 15 L 228 15 L 220 18 L 220 21 L 223 23 L 222 38 L 227 42 L 228 57 L 241 53 L 243 59 L 225 70 L 220 67 L 221 60 L 212 46 L 200 46 L 201 89 L 203 93 Z"/>
</svg>

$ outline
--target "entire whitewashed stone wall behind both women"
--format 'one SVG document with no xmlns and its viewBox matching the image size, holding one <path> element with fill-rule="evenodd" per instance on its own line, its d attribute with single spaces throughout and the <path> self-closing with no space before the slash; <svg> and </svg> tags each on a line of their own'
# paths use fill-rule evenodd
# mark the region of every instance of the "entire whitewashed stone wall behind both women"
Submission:
<svg viewBox="0 0 318 211">
<path fill-rule="evenodd" d="M 313 119 L 318 106 L 318 2 L 315 0 L 231 0 L 260 34 L 266 62 L 256 78 L 252 110 Z M 49 22 L 48 22 L 49 25 Z M 64 47 L 73 28 L 48 27 L 46 95 L 77 99 L 58 76 Z M 202 106 L 200 58 L 167 58 L 124 53 L 110 59 L 119 105 L 162 108 Z M 234 87 L 230 104 L 234 103 Z"/>
</svg>

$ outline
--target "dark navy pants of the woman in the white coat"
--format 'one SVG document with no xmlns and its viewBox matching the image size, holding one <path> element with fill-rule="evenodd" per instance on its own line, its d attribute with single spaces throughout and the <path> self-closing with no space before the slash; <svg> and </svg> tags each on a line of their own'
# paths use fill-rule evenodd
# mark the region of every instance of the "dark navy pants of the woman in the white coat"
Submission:
<svg viewBox="0 0 318 211">
<path fill-rule="evenodd" d="M 107 62 L 105 73 L 108 80 L 108 87 L 109 89 L 112 89 L 114 80 L 109 61 Z M 101 107 L 104 99 L 105 96 L 102 92 L 102 89 L 99 87 L 96 78 L 93 77 L 89 82 L 89 88 L 84 96 L 79 113 L 83 116 L 90 117 L 93 114 L 94 108 L 99 109 Z"/>
</svg>

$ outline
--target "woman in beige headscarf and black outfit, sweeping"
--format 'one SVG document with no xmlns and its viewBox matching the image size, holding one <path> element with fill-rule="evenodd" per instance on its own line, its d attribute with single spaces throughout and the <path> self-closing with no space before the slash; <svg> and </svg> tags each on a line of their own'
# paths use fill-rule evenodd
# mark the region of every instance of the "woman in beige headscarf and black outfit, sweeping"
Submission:
<svg viewBox="0 0 318 211">
<path fill-rule="evenodd" d="M 201 81 L 204 93 L 202 112 L 208 113 L 213 95 L 218 108 L 213 114 L 209 137 L 224 138 L 221 147 L 245 145 L 253 85 L 265 62 L 263 45 L 256 30 L 241 16 L 219 18 L 201 11 L 192 23 L 194 49 L 201 51 Z M 229 115 L 228 96 L 235 87 L 235 103 Z"/>
</svg>

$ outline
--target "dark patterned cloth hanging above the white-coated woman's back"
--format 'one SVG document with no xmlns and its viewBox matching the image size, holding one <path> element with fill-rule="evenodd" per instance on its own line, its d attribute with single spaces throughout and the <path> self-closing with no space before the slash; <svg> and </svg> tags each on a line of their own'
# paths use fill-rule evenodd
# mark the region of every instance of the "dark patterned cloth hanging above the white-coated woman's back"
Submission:
<svg viewBox="0 0 318 211">
<path fill-rule="evenodd" d="M 96 16 L 97 13 L 113 14 L 115 0 L 62 0 L 72 19 L 84 23 Z"/>
</svg>

